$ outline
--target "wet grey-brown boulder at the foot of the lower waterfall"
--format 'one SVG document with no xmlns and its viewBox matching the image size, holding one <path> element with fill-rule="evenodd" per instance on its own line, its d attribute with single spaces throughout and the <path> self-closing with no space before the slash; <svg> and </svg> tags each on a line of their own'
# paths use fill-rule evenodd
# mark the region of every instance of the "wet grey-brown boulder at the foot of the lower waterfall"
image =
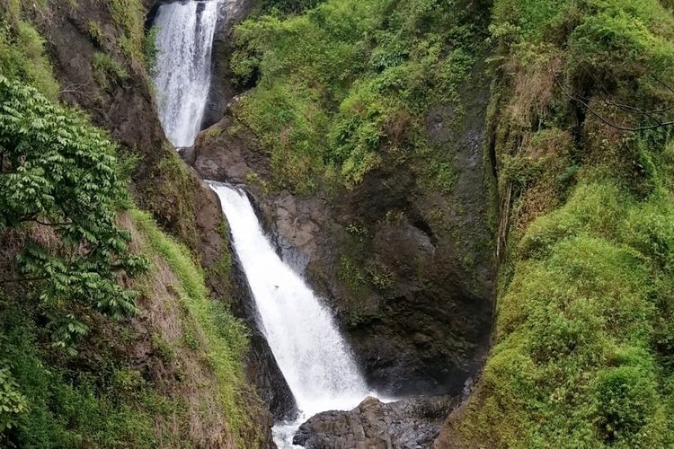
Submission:
<svg viewBox="0 0 674 449">
<path fill-rule="evenodd" d="M 325 411 L 304 423 L 293 444 L 306 449 L 423 449 L 457 404 L 449 396 L 382 403 L 369 397 L 350 411 Z"/>
</svg>

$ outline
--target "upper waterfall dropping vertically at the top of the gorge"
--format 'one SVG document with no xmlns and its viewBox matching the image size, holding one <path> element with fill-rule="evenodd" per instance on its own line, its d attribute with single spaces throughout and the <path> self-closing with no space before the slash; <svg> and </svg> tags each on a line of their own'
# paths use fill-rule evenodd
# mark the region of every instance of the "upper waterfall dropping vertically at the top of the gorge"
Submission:
<svg viewBox="0 0 674 449">
<path fill-rule="evenodd" d="M 193 145 L 200 131 L 217 6 L 217 0 L 173 2 L 159 6 L 155 17 L 159 119 L 176 147 Z"/>
</svg>

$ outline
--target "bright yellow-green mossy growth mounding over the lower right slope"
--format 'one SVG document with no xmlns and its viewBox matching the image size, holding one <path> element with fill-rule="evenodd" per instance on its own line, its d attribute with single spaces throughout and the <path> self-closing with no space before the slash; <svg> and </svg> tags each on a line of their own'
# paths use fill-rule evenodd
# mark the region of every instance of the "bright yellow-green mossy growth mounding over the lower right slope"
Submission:
<svg viewBox="0 0 674 449">
<path fill-rule="evenodd" d="M 482 380 L 488 393 L 463 425 L 470 438 L 494 432 L 507 445 L 670 441 L 668 409 L 655 387 L 662 371 L 651 351 L 656 304 L 671 307 L 670 285 L 653 279 L 671 277 L 671 268 L 644 263 L 657 246 L 631 243 L 653 233 L 674 238 L 670 226 L 652 232 L 637 225 L 646 234 L 634 236 L 637 216 L 663 224 L 674 218 L 671 207 L 652 201 L 620 198 L 610 183 L 584 185 L 530 226 L 499 301 L 498 343 Z M 483 429 L 475 431 L 478 422 Z"/>
</svg>

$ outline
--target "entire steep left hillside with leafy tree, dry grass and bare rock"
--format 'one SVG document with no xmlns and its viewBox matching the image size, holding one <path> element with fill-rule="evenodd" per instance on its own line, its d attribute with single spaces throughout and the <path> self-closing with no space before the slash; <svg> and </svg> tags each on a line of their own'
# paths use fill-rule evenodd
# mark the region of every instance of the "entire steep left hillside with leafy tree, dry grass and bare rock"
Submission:
<svg viewBox="0 0 674 449">
<path fill-rule="evenodd" d="M 223 219 L 165 145 L 144 20 L 0 4 L 0 445 L 270 444 Z"/>
</svg>

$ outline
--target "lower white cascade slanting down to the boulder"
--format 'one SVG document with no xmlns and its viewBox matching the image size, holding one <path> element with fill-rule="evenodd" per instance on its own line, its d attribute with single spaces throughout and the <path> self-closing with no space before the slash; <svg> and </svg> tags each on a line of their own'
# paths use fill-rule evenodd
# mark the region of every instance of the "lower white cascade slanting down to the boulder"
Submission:
<svg viewBox="0 0 674 449">
<path fill-rule="evenodd" d="M 368 389 L 333 317 L 274 251 L 244 192 L 215 182 L 210 186 L 229 222 L 262 332 L 300 409 L 295 423 L 274 427 L 279 449 L 293 447 L 302 420 L 324 410 L 352 409 Z"/>
</svg>

